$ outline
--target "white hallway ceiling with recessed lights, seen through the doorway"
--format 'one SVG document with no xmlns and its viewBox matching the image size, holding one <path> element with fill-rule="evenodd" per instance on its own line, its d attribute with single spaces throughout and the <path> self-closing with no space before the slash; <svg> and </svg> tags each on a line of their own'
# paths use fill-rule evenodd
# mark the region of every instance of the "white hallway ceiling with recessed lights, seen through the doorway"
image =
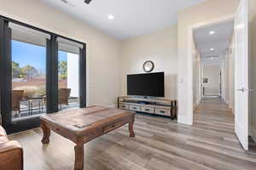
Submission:
<svg viewBox="0 0 256 170">
<path fill-rule="evenodd" d="M 234 21 L 228 21 L 194 31 L 196 48 L 199 50 L 203 61 L 212 64 L 219 63 L 221 56 L 229 48 L 233 30 Z M 215 31 L 215 34 L 210 35 L 210 31 Z M 211 48 L 214 48 L 214 51 L 211 51 Z"/>
</svg>

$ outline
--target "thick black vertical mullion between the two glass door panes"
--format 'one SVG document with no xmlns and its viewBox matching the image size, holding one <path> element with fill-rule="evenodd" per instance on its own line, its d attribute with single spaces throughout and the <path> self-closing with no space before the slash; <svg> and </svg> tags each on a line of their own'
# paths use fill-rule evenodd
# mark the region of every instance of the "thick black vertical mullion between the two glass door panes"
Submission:
<svg viewBox="0 0 256 170">
<path fill-rule="evenodd" d="M 58 111 L 58 43 L 56 37 L 46 42 L 46 109 L 47 113 Z"/>
</svg>

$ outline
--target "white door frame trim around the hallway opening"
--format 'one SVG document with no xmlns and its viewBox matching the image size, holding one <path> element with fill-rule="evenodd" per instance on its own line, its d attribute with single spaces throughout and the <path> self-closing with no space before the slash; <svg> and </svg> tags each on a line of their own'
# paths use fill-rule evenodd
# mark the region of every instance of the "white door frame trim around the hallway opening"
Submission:
<svg viewBox="0 0 256 170">
<path fill-rule="evenodd" d="M 236 14 L 228 14 L 224 15 L 223 17 L 219 17 L 215 20 L 209 20 L 209 21 L 203 21 L 200 23 L 197 23 L 195 25 L 189 26 L 188 27 L 188 60 L 187 60 L 187 65 L 188 65 L 188 89 L 187 91 L 191 91 L 193 87 L 193 43 L 194 43 L 194 37 L 193 37 L 193 31 L 198 28 L 203 28 L 211 25 L 216 25 L 220 23 L 224 23 L 230 20 L 235 20 Z M 191 92 L 191 95 L 189 96 L 189 102 L 187 104 L 188 107 L 188 116 L 186 116 L 186 120 L 179 120 L 179 119 L 184 119 L 184 116 L 178 116 L 177 122 L 187 122 L 187 124 L 192 125 L 194 121 L 194 111 L 193 111 L 193 90 Z"/>
</svg>

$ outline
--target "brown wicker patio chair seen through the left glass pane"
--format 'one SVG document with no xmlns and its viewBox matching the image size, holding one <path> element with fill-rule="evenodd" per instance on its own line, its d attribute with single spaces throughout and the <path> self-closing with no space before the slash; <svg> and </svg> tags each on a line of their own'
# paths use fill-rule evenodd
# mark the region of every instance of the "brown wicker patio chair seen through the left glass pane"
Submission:
<svg viewBox="0 0 256 170">
<path fill-rule="evenodd" d="M 12 90 L 12 111 L 15 111 L 15 114 L 20 114 L 20 101 L 24 94 L 24 90 Z"/>
</svg>

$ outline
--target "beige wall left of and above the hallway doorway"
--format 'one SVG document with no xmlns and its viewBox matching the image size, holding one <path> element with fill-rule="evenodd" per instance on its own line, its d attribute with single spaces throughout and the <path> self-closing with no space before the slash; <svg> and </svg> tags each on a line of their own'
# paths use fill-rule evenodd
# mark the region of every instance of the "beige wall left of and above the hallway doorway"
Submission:
<svg viewBox="0 0 256 170">
<path fill-rule="evenodd" d="M 234 14 L 239 0 L 207 0 L 178 13 L 178 122 L 193 123 L 193 99 L 191 51 L 189 46 L 189 26 L 217 20 Z M 218 9 L 218 10 L 217 10 Z"/>
</svg>

